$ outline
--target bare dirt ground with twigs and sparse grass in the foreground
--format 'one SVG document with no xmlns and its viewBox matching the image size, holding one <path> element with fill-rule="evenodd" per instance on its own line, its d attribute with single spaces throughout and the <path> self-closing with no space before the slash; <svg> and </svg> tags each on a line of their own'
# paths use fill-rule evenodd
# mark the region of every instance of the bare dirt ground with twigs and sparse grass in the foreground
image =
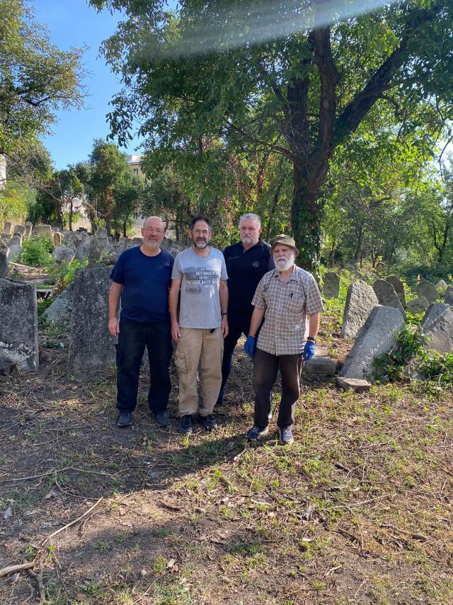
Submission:
<svg viewBox="0 0 453 605">
<path fill-rule="evenodd" d="M 36 374 L 0 379 L 0 570 L 35 574 L 0 577 L 1 604 L 38 602 L 38 584 L 55 604 L 453 602 L 452 392 L 304 376 L 294 446 L 274 420 L 251 447 L 243 353 L 219 430 L 183 437 L 174 368 L 171 429 L 144 369 L 120 430 L 113 375 L 71 382 L 67 335 L 40 341 Z M 338 361 L 350 347 L 328 317 L 321 343 Z"/>
</svg>

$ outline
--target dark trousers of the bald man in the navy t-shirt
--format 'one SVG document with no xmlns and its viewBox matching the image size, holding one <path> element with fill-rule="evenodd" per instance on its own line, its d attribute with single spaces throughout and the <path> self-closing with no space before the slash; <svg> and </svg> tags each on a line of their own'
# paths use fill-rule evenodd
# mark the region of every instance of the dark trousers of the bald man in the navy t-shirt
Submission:
<svg viewBox="0 0 453 605">
<path fill-rule="evenodd" d="M 156 413 L 168 404 L 171 391 L 168 367 L 173 353 L 170 321 L 141 323 L 122 318 L 116 348 L 116 406 L 122 412 L 132 412 L 137 406 L 140 363 L 145 348 L 151 374 L 149 409 Z"/>
</svg>

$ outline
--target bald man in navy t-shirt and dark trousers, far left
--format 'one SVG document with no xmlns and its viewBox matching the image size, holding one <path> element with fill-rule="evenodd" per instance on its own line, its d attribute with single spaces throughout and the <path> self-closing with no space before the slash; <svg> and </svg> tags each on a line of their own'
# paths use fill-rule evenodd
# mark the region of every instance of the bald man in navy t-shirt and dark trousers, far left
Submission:
<svg viewBox="0 0 453 605">
<path fill-rule="evenodd" d="M 108 330 L 117 343 L 117 426 L 132 424 L 137 406 L 140 364 L 148 350 L 151 386 L 148 404 L 159 426 L 170 424 L 166 411 L 171 391 L 168 371 L 171 354 L 171 324 L 168 288 L 173 257 L 161 249 L 164 222 L 150 216 L 143 223 L 143 243 L 122 252 L 110 274 Z M 120 321 L 117 319 L 121 299 Z"/>
</svg>

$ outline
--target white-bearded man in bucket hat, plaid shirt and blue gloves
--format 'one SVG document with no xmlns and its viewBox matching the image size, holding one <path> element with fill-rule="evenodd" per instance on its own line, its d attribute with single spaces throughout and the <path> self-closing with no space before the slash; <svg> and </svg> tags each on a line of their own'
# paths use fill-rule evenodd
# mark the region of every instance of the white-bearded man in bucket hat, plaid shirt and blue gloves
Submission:
<svg viewBox="0 0 453 605">
<path fill-rule="evenodd" d="M 277 235 L 270 251 L 275 269 L 265 274 L 253 296 L 255 309 L 244 345 L 247 355 L 253 357 L 255 392 L 255 417 L 247 437 L 256 441 L 268 433 L 271 392 L 280 368 L 282 399 L 277 427 L 280 443 L 290 445 L 300 374 L 304 361 L 314 356 L 323 303 L 313 275 L 294 265 L 298 250 L 289 235 Z"/>
</svg>

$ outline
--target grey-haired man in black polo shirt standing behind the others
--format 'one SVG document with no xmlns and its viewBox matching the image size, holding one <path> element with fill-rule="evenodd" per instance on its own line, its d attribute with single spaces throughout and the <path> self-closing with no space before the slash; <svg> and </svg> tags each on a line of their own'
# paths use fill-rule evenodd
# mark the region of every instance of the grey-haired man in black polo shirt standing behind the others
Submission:
<svg viewBox="0 0 453 605">
<path fill-rule="evenodd" d="M 269 245 L 260 240 L 261 219 L 258 214 L 244 214 L 239 219 L 241 241 L 224 250 L 228 273 L 228 326 L 224 340 L 222 387 L 217 404 L 224 399 L 225 383 L 231 372 L 231 357 L 241 333 L 248 335 L 253 313 L 251 301 L 265 273 L 275 268 Z"/>
</svg>

